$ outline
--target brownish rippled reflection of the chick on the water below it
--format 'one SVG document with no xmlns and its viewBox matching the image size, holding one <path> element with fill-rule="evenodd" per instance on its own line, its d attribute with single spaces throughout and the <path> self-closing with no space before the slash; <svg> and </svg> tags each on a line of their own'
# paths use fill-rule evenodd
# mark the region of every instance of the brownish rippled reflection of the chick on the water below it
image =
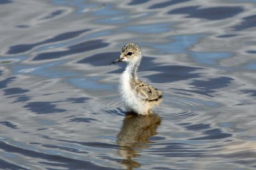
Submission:
<svg viewBox="0 0 256 170">
<path fill-rule="evenodd" d="M 148 148 L 152 143 L 148 139 L 157 134 L 156 129 L 161 122 L 161 118 L 156 115 L 136 115 L 134 113 L 126 113 L 123 120 L 123 126 L 117 136 L 116 143 L 120 146 L 118 154 L 123 157 L 122 164 L 127 169 L 140 167 L 140 163 L 132 160 L 139 157 L 141 148 Z"/>
</svg>

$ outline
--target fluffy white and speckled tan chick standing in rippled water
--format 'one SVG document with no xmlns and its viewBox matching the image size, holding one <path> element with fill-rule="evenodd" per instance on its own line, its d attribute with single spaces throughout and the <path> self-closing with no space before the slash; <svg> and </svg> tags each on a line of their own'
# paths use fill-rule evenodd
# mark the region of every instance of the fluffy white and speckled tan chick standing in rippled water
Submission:
<svg viewBox="0 0 256 170">
<path fill-rule="evenodd" d="M 127 111 L 139 115 L 148 115 L 152 113 L 155 106 L 163 101 L 163 93 L 138 78 L 137 70 L 141 57 L 140 46 L 136 43 L 128 43 L 122 48 L 120 58 L 110 64 L 127 62 L 127 67 L 120 78 L 120 91 L 125 108 Z"/>
</svg>

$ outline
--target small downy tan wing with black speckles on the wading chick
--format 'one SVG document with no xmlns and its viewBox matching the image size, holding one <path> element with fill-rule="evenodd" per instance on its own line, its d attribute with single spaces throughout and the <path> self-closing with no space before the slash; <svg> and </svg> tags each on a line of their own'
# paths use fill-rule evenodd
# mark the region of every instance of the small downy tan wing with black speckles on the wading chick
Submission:
<svg viewBox="0 0 256 170">
<path fill-rule="evenodd" d="M 162 92 L 146 83 L 140 83 L 135 87 L 136 94 L 146 101 L 157 101 L 162 97 Z"/>
</svg>

